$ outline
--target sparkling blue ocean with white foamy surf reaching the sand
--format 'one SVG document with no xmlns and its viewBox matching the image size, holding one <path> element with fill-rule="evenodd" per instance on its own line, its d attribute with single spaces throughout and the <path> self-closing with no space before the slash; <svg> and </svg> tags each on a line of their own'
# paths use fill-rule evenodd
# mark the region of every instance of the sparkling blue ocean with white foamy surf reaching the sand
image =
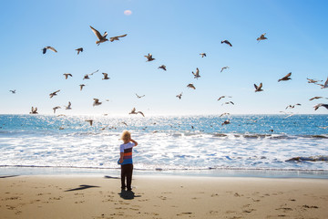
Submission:
<svg viewBox="0 0 328 219">
<path fill-rule="evenodd" d="M 0 174 L 119 172 L 130 130 L 135 172 L 328 178 L 327 126 L 328 115 L 0 115 Z"/>
</svg>

